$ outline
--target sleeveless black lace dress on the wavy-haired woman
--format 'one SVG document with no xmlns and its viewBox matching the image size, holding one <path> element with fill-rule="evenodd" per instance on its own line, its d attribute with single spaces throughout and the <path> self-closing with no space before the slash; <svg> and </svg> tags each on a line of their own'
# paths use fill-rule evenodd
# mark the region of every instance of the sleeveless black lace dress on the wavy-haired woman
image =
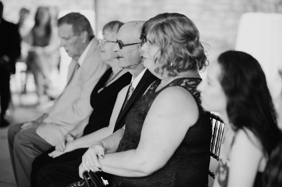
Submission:
<svg viewBox="0 0 282 187">
<path fill-rule="evenodd" d="M 154 99 L 167 87 L 181 86 L 192 94 L 199 110 L 198 121 L 189 128 L 180 146 L 163 168 L 145 177 L 111 175 L 108 178 L 110 186 L 207 186 L 212 127 L 210 113 L 201 107 L 200 94 L 196 90 L 200 82 L 200 78 L 179 78 L 157 92 L 155 89 L 160 80 L 152 84 L 147 94 L 128 113 L 125 132 L 117 152 L 137 148 L 147 112 Z"/>
</svg>

